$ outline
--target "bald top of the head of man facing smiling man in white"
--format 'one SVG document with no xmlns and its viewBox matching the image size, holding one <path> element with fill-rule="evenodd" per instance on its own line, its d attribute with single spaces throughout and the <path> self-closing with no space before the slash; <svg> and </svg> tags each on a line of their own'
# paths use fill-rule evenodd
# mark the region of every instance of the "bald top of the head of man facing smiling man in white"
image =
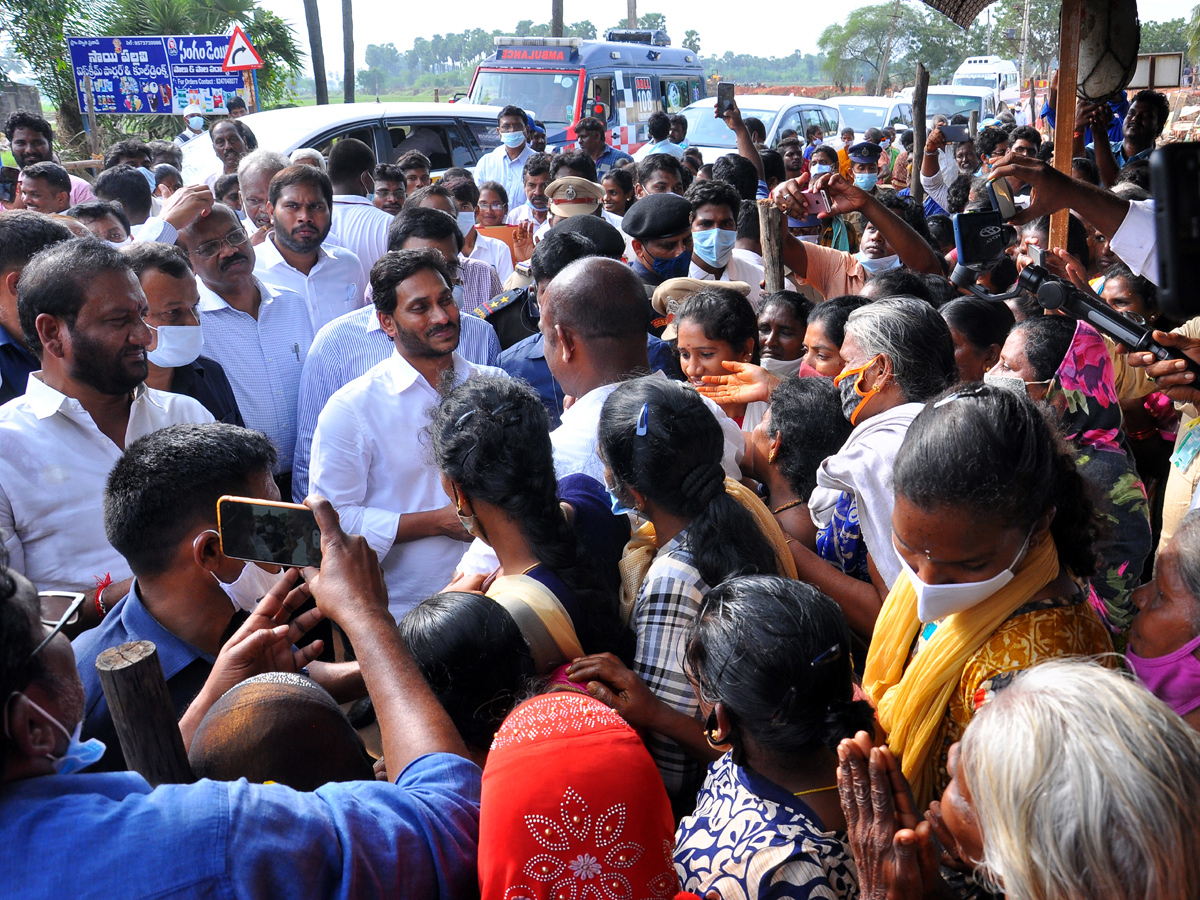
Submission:
<svg viewBox="0 0 1200 900">
<path fill-rule="evenodd" d="M 578 340 L 630 341 L 644 347 L 650 329 L 646 287 L 624 263 L 604 257 L 578 259 L 563 269 L 541 299 L 554 325 Z"/>
</svg>

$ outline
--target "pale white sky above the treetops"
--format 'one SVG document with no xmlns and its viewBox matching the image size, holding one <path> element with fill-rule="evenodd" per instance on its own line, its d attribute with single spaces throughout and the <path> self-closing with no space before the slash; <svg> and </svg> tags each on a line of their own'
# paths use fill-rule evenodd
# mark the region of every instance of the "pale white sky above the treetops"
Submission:
<svg viewBox="0 0 1200 900">
<path fill-rule="evenodd" d="M 874 0 L 878 2 L 880 0 Z M 262 5 L 287 19 L 295 26 L 301 46 L 307 50 L 308 31 L 301 0 L 260 0 Z M 581 4 L 564 0 L 563 17 L 568 24 L 589 19 L 599 31 L 624 20 L 624 0 L 593 0 Z M 791 6 L 791 4 L 788 4 Z M 667 31 L 674 46 L 683 41 L 688 28 L 700 32 L 700 47 L 704 55 L 752 53 L 760 56 L 787 56 L 793 50 L 817 52 L 817 38 L 834 23 L 845 20 L 851 10 L 869 6 L 864 0 L 842 2 L 796 4 L 796 23 L 791 28 L 763 28 L 758 16 L 776 14 L 781 8 L 778 0 L 739 0 L 733 16 L 698 16 L 701 10 L 721 8 L 716 0 L 640 0 L 641 14 L 660 12 L 666 16 Z M 1195 0 L 1141 0 L 1138 4 L 1142 22 L 1188 18 Z M 341 0 L 318 0 L 320 31 L 325 43 L 325 68 L 342 71 L 342 4 Z M 410 2 L 403 6 L 395 0 L 354 0 L 354 49 L 358 67 L 364 66 L 362 53 L 368 43 L 396 44 L 402 53 L 413 46 L 415 37 L 432 37 L 436 34 L 452 34 L 472 28 L 510 30 L 518 19 L 550 20 L 550 2 L 541 0 L 542 14 L 534 12 L 535 4 L 509 6 L 497 0 L 456 0 L 450 6 L 440 4 Z M 748 14 L 749 12 L 757 13 Z M 706 24 L 707 23 L 707 24 Z"/>
</svg>

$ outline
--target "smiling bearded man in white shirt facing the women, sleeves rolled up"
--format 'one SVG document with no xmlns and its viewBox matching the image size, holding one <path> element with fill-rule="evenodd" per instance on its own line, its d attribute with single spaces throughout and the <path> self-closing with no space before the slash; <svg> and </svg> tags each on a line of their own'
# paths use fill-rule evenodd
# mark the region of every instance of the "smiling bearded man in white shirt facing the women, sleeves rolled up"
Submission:
<svg viewBox="0 0 1200 900">
<path fill-rule="evenodd" d="M 476 372 L 455 353 L 458 306 L 437 251 L 389 253 L 371 290 L 392 356 L 330 397 L 312 440 L 312 493 L 328 497 L 342 527 L 379 556 L 389 608 L 404 612 L 446 586 L 469 540 L 421 433 L 439 389 Z"/>
</svg>

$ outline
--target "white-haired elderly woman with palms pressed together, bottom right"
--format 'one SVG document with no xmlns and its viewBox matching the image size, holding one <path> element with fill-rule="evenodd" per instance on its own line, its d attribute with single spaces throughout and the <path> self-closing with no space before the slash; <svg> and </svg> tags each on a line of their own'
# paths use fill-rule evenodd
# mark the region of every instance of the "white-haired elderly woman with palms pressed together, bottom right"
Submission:
<svg viewBox="0 0 1200 900">
<path fill-rule="evenodd" d="M 888 748 L 859 732 L 838 756 L 864 900 L 944 896 L 938 842 L 1008 900 L 1200 896 L 1200 737 L 1096 662 L 1044 662 L 986 703 L 925 821 Z"/>
</svg>

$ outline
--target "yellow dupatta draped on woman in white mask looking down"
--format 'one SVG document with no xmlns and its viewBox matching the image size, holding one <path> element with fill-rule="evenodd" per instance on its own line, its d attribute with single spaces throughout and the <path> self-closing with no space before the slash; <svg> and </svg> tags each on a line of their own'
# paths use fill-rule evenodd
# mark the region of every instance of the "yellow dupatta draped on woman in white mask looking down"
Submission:
<svg viewBox="0 0 1200 900">
<path fill-rule="evenodd" d="M 1030 550 L 1008 584 L 970 610 L 947 616 L 907 667 L 922 628 L 907 574 L 901 572 L 883 601 L 866 654 L 863 688 L 920 805 L 932 799 L 929 758 L 967 660 L 1009 616 L 1058 577 L 1058 550 L 1046 535 Z"/>
</svg>

